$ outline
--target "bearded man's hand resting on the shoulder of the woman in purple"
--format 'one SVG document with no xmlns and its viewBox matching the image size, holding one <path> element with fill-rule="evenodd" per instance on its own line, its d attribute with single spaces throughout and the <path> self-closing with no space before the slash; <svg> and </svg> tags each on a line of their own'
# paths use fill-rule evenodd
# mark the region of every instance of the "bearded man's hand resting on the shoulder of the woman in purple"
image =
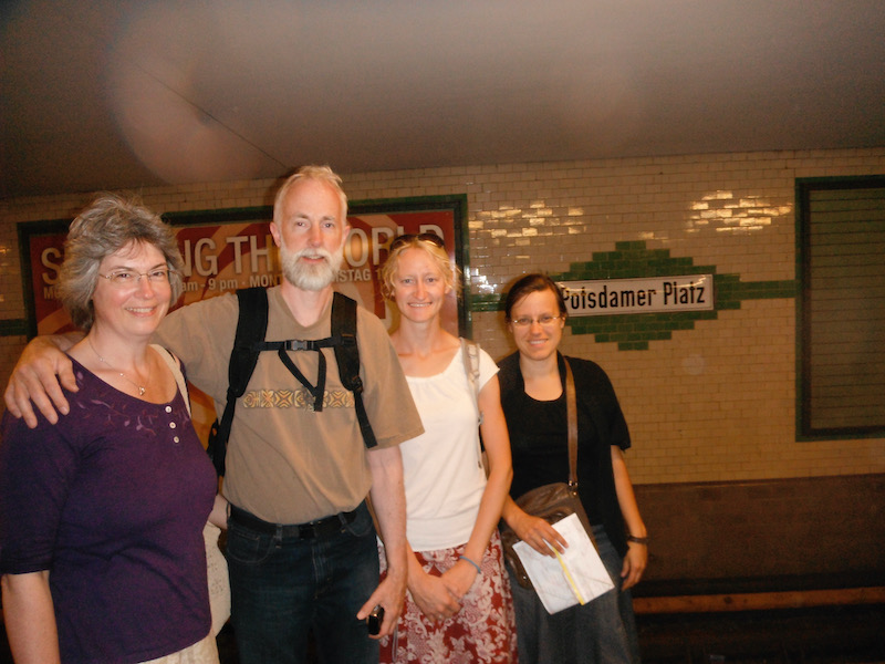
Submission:
<svg viewBox="0 0 885 664">
<path fill-rule="evenodd" d="M 81 339 L 83 336 L 82 333 L 77 335 Z M 79 387 L 71 360 L 62 350 L 70 349 L 74 343 L 75 339 L 71 335 L 38 336 L 24 346 L 9 377 L 3 401 L 9 412 L 15 417 L 23 417 L 29 427 L 37 426 L 33 406 L 51 424 L 59 422 L 59 413 L 67 414 L 70 406 L 62 386 L 71 392 L 76 392 Z"/>
</svg>

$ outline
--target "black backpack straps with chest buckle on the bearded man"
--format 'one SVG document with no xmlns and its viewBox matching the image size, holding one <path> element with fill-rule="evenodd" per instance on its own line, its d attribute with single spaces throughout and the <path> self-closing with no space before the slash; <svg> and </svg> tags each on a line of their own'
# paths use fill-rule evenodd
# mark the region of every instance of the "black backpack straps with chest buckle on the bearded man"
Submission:
<svg viewBox="0 0 885 664">
<path fill-rule="evenodd" d="M 332 336 L 313 341 L 266 341 L 268 331 L 268 291 L 264 288 L 247 288 L 237 291 L 240 303 L 237 334 L 228 364 L 228 393 L 225 413 L 216 419 L 209 432 L 207 452 L 219 476 L 225 475 L 225 457 L 233 423 L 237 400 L 246 392 L 249 378 L 258 364 L 262 351 L 277 351 L 285 367 L 304 385 L 313 400 L 313 409 L 323 409 L 325 392 L 325 356 L 321 349 L 334 349 L 339 365 L 339 377 L 346 390 L 353 392 L 356 418 L 366 447 L 375 447 L 375 434 L 363 404 L 363 381 L 360 378 L 360 349 L 356 345 L 356 302 L 339 292 L 332 300 Z M 316 351 L 320 353 L 320 371 L 316 385 L 298 370 L 287 351 Z"/>
</svg>

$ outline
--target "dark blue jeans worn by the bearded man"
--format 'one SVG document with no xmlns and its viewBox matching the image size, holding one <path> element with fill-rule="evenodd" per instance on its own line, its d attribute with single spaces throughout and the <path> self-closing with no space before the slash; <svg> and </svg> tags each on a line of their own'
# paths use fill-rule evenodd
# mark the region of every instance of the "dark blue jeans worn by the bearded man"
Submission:
<svg viewBox="0 0 885 664">
<path fill-rule="evenodd" d="M 298 539 L 228 525 L 231 622 L 241 664 L 306 661 L 308 635 L 327 664 L 378 661 L 356 613 L 378 585 L 375 527 L 365 504 L 325 538 Z"/>
</svg>

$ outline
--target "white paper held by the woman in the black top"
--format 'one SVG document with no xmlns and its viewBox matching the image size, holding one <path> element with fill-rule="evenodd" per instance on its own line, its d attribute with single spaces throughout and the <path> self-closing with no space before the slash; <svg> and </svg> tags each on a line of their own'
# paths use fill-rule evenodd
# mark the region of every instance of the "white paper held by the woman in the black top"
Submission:
<svg viewBox="0 0 885 664">
<path fill-rule="evenodd" d="M 569 542 L 559 557 L 541 556 L 522 541 L 513 546 L 544 609 L 551 614 L 579 603 L 586 604 L 615 587 L 576 515 L 553 523 L 553 528 Z"/>
</svg>

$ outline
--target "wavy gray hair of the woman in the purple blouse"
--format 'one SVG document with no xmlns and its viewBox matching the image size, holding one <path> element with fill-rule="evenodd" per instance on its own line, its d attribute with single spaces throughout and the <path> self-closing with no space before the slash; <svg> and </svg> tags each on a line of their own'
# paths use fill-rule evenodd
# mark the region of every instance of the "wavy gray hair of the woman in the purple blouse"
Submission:
<svg viewBox="0 0 885 664">
<path fill-rule="evenodd" d="M 174 303 L 184 290 L 184 260 L 171 227 L 135 198 L 101 194 L 71 222 L 59 276 L 59 299 L 74 325 L 88 332 L 95 322 L 92 295 L 101 262 L 129 243 L 150 245 L 166 259 Z"/>
</svg>

